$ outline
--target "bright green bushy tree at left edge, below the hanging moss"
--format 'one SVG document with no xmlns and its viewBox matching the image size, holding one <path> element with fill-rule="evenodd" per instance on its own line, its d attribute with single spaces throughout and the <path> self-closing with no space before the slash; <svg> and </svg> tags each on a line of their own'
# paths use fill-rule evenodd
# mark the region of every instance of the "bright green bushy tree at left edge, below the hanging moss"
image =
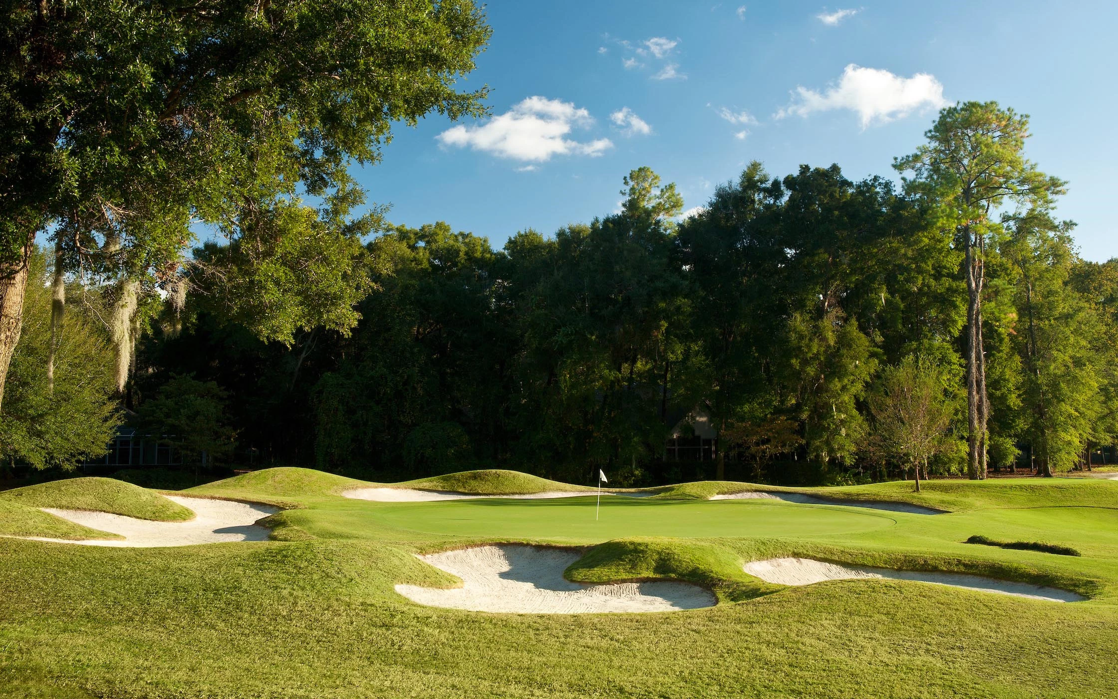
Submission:
<svg viewBox="0 0 1118 699">
<path fill-rule="evenodd" d="M 0 409 L 0 459 L 36 469 L 73 469 L 84 459 L 104 454 L 121 422 L 113 398 L 114 357 L 95 319 L 86 309 L 73 308 L 64 318 L 54 391 L 49 389 L 51 297 L 45 267 L 44 256 L 37 253 L 31 259 L 20 342 Z"/>
</svg>

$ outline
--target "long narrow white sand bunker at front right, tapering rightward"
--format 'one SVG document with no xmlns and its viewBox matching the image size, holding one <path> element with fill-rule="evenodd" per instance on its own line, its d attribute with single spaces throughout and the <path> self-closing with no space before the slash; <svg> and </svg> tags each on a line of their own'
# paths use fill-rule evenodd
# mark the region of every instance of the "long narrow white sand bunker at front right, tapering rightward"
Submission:
<svg viewBox="0 0 1118 699">
<path fill-rule="evenodd" d="M 842 566 L 834 563 L 813 560 L 811 558 L 770 558 L 768 560 L 751 560 L 745 566 L 746 573 L 754 577 L 759 577 L 766 583 L 778 585 L 812 585 L 824 580 L 851 580 L 851 579 L 893 579 L 893 580 L 916 580 L 919 583 L 932 583 L 935 585 L 948 585 L 950 587 L 965 587 L 979 592 L 997 593 L 1002 595 L 1013 595 L 1016 597 L 1029 597 L 1030 599 L 1043 599 L 1045 602 L 1082 602 L 1087 597 L 1078 595 L 1067 589 L 1057 587 L 1044 587 L 1042 585 L 1031 585 L 1029 583 L 1013 583 L 1011 580 L 998 580 L 983 577 L 980 575 L 967 575 L 965 573 L 932 573 L 922 570 L 890 570 L 889 568 L 871 568 L 864 566 Z"/>
</svg>

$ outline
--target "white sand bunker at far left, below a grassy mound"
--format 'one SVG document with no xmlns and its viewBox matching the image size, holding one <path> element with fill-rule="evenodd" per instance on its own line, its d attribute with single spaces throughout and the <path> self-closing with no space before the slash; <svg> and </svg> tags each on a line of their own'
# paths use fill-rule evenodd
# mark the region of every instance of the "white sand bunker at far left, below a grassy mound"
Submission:
<svg viewBox="0 0 1118 699">
<path fill-rule="evenodd" d="M 56 510 L 42 508 L 72 522 L 110 531 L 124 537 L 124 540 L 91 539 L 73 541 L 69 539 L 48 539 L 45 537 L 21 537 L 37 541 L 59 541 L 63 544 L 82 544 L 85 546 L 191 546 L 193 544 L 216 544 L 219 541 L 266 541 L 268 529 L 256 525 L 256 520 L 275 514 L 280 508 L 267 504 L 233 502 L 229 500 L 209 500 L 205 498 L 181 498 L 164 495 L 168 500 L 193 510 L 195 518 L 188 522 L 154 522 L 146 519 L 108 514 L 107 512 L 89 512 L 86 510 Z"/>
</svg>

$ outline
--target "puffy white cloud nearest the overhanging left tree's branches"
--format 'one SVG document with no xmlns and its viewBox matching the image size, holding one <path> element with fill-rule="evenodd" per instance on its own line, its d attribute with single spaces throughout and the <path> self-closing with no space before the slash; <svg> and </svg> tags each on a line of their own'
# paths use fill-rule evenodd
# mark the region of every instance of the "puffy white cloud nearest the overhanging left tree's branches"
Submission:
<svg viewBox="0 0 1118 699">
<path fill-rule="evenodd" d="M 603 154 L 613 148 L 609 139 L 589 142 L 566 138 L 572 129 L 594 123 L 590 113 L 570 102 L 528 97 L 481 125 L 458 124 L 438 134 L 443 145 L 472 148 L 499 158 L 527 162 L 544 162 L 552 155 Z"/>
</svg>

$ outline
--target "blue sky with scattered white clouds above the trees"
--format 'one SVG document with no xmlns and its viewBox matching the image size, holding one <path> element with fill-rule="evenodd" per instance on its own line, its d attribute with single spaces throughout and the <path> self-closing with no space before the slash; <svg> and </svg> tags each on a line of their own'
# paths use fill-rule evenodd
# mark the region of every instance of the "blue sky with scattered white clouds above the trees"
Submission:
<svg viewBox="0 0 1118 699">
<path fill-rule="evenodd" d="M 398 126 L 358 172 L 392 223 L 500 247 L 614 211 L 645 164 L 688 208 L 750 160 L 893 177 L 939 105 L 996 100 L 1032 115 L 1029 157 L 1069 180 L 1058 214 L 1082 256 L 1118 257 L 1118 6 L 500 0 L 486 15 L 463 86 L 491 87 L 492 117 Z"/>
</svg>

